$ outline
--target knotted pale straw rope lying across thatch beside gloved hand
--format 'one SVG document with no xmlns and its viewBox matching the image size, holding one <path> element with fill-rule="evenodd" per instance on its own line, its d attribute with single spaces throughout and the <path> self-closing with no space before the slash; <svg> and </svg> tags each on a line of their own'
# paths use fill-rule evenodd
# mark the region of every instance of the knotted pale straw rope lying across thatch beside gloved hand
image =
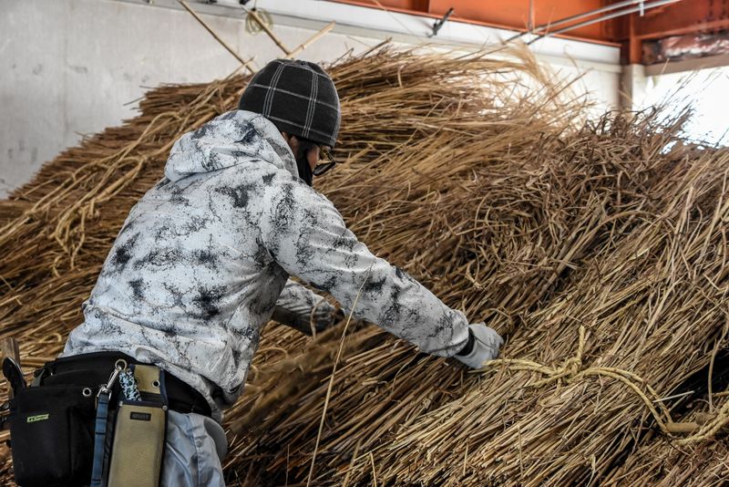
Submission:
<svg viewBox="0 0 729 487">
<path fill-rule="evenodd" d="M 488 371 L 498 367 L 506 367 L 509 370 L 526 370 L 529 372 L 537 372 L 543 376 L 547 376 L 533 384 L 529 384 L 529 387 L 539 388 L 542 386 L 549 385 L 553 382 L 565 383 L 575 382 L 580 378 L 586 378 L 589 376 L 601 376 L 606 378 L 612 378 L 625 384 L 642 400 L 645 407 L 650 411 L 653 420 L 655 420 L 658 427 L 667 436 L 673 438 L 673 433 L 669 425 L 676 424 L 671 418 L 671 412 L 662 404 L 662 398 L 658 393 L 640 376 L 624 370 L 621 368 L 612 367 L 590 367 L 582 368 L 582 357 L 585 350 L 585 327 L 580 326 L 580 342 L 577 348 L 577 354 L 575 357 L 570 357 L 562 362 L 562 365 L 558 368 L 552 368 L 533 362 L 531 360 L 524 360 L 520 358 L 497 358 L 490 360 L 484 364 L 483 368 L 477 371 Z M 647 391 L 643 391 L 641 386 Z M 656 405 L 658 408 L 656 409 Z M 724 429 L 729 424 L 729 402 L 725 403 L 724 406 L 719 409 L 713 420 L 703 424 L 693 434 L 678 440 L 677 443 L 686 445 L 690 443 L 698 443 L 704 440 L 710 440 L 714 438 L 714 435 L 720 430 Z"/>
</svg>

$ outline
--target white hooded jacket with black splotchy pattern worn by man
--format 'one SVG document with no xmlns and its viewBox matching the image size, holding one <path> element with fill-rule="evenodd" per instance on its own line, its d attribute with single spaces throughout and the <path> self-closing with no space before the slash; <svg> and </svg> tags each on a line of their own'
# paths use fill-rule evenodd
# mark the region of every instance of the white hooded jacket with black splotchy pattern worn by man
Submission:
<svg viewBox="0 0 729 487">
<path fill-rule="evenodd" d="M 452 356 L 467 319 L 347 230 L 301 181 L 267 119 L 233 110 L 182 136 L 165 178 L 129 212 L 64 355 L 118 350 L 154 363 L 210 401 L 241 394 L 262 326 L 289 275 L 423 351 Z M 290 283 L 284 296 L 321 298 Z M 286 303 L 279 303 L 286 306 Z"/>
</svg>

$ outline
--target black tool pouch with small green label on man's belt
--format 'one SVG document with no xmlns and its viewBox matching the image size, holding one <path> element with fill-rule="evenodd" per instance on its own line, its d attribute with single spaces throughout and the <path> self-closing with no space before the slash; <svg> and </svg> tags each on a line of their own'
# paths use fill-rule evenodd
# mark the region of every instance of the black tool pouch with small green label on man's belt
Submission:
<svg viewBox="0 0 729 487">
<path fill-rule="evenodd" d="M 95 394 L 82 386 L 20 389 L 10 403 L 15 482 L 22 487 L 90 481 Z"/>
</svg>

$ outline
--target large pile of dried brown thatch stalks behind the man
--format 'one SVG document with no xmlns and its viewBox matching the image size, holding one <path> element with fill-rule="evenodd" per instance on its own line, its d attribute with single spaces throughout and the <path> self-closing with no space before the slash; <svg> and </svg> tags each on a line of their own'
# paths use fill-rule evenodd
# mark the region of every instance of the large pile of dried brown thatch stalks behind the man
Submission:
<svg viewBox="0 0 729 487">
<path fill-rule="evenodd" d="M 344 326 L 312 340 L 269 325 L 227 416 L 231 484 L 305 482 L 314 451 L 317 484 L 729 479 L 729 150 L 683 140 L 683 115 L 585 121 L 526 57 L 385 49 L 331 72 L 346 163 L 319 188 L 375 254 L 508 342 L 468 373 L 351 324 L 320 430 Z M 171 143 L 243 86 L 151 91 L 0 202 L 0 322 L 24 365 L 80 322 Z"/>
</svg>

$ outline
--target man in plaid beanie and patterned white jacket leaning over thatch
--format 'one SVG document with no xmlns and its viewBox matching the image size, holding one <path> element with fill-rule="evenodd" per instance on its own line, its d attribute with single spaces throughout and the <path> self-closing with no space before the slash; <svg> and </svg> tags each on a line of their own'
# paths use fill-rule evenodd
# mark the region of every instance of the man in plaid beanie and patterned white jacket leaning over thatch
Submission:
<svg viewBox="0 0 729 487">
<path fill-rule="evenodd" d="M 313 175 L 333 165 L 317 163 L 339 123 L 339 98 L 321 67 L 272 61 L 238 110 L 175 143 L 165 177 L 131 210 L 108 254 L 64 357 L 121 352 L 192 389 L 184 407 L 170 402 L 162 485 L 224 485 L 221 411 L 241 395 L 274 306 L 332 316 L 290 275 L 346 312 L 359 294 L 356 318 L 427 353 L 472 368 L 498 356 L 494 330 L 469 326 L 371 254 L 313 190 Z"/>
</svg>

